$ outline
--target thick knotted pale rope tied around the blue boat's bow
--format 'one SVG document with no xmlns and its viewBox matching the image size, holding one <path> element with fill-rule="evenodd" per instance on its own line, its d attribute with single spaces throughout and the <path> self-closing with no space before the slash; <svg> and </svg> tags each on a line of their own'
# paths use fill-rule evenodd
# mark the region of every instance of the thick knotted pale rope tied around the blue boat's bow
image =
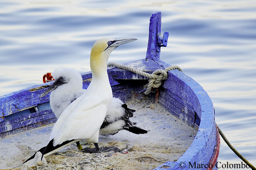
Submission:
<svg viewBox="0 0 256 170">
<path fill-rule="evenodd" d="M 130 72 L 134 72 L 134 73 L 142 75 L 144 77 L 148 77 L 149 82 L 147 84 L 147 89 L 144 92 L 145 95 L 148 95 L 151 92 L 152 87 L 155 88 L 155 89 L 160 87 L 160 85 L 162 84 L 162 80 L 167 79 L 167 77 L 168 77 L 167 72 L 168 71 L 173 70 L 173 69 L 178 69 L 181 72 L 183 72 L 182 69 L 179 66 L 170 66 L 170 67 L 165 68 L 164 70 L 158 69 L 158 70 L 155 70 L 152 74 L 143 72 L 141 70 L 138 70 L 137 68 L 133 68 L 133 67 L 130 67 L 130 66 L 125 66 L 123 64 L 119 64 L 119 63 L 115 63 L 115 62 L 108 63 L 108 67 L 109 66 L 115 66 L 117 68 L 129 70 Z"/>
</svg>

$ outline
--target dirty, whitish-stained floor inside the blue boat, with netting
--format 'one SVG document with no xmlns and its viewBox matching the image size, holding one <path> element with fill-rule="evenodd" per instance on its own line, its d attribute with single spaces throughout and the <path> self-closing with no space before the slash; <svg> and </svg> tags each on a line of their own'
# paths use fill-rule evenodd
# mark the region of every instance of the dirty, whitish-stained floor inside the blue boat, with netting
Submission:
<svg viewBox="0 0 256 170">
<path fill-rule="evenodd" d="M 47 156 L 48 164 L 38 164 L 34 169 L 154 169 L 164 162 L 178 160 L 194 141 L 197 129 L 174 117 L 159 103 L 134 99 L 126 104 L 136 110 L 130 120 L 148 130 L 147 134 L 121 130 L 115 135 L 99 136 L 99 147 L 116 146 L 119 152 L 90 154 L 79 151 L 74 143 Z M 0 138 L 0 169 L 20 168 L 26 159 L 47 145 L 53 125 Z M 94 147 L 86 140 L 80 143 L 83 148 Z"/>
</svg>

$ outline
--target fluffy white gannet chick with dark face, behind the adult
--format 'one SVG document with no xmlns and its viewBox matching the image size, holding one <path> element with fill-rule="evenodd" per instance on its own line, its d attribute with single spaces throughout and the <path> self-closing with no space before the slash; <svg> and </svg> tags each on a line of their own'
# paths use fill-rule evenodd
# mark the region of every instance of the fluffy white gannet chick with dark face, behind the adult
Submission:
<svg viewBox="0 0 256 170">
<path fill-rule="evenodd" d="M 53 84 L 40 97 L 50 94 L 50 106 L 58 119 L 61 113 L 70 103 L 80 97 L 86 90 L 82 88 L 81 74 L 74 68 L 59 68 L 52 72 Z M 129 118 L 133 117 L 135 110 L 127 108 L 119 98 L 113 97 L 103 124 L 100 126 L 100 135 L 114 135 L 120 130 L 127 130 L 134 134 L 146 134 L 147 131 L 135 126 Z M 82 149 L 79 141 L 76 142 L 78 149 Z M 80 148 L 80 147 L 81 148 Z M 42 157 L 45 147 L 39 149 L 32 157 L 24 163 L 36 164 Z M 39 153 L 40 152 L 40 153 Z M 45 160 L 44 160 L 45 162 Z M 27 164 L 29 164 L 27 163 Z"/>
</svg>

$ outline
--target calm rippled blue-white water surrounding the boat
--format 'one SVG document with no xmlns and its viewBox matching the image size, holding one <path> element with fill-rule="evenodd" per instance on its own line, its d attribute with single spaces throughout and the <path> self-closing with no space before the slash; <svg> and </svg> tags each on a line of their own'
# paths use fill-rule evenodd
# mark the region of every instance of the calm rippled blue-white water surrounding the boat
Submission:
<svg viewBox="0 0 256 170">
<path fill-rule="evenodd" d="M 170 34 L 160 58 L 203 86 L 220 129 L 256 166 L 255 0 L 2 0 L 0 96 L 41 84 L 56 67 L 89 71 L 91 47 L 102 37 L 138 39 L 109 61 L 145 58 L 154 11 Z M 223 140 L 218 161 L 241 163 Z"/>
</svg>

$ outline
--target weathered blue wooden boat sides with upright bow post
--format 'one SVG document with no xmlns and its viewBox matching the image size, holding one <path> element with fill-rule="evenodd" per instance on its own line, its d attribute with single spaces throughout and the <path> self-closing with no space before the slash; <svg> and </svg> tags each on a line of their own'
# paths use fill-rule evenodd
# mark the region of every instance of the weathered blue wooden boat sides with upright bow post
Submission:
<svg viewBox="0 0 256 170">
<path fill-rule="evenodd" d="M 160 47 L 167 46 L 167 39 L 167 32 L 161 36 L 161 13 L 152 13 L 146 58 L 125 65 L 132 65 L 134 68 L 143 66 L 147 73 L 169 67 L 169 64 L 160 60 Z M 134 95 L 139 96 L 131 91 L 139 92 L 148 83 L 147 77 L 116 67 L 109 67 L 108 75 L 113 96 L 123 101 Z M 82 78 L 83 88 L 87 89 L 89 79 L 92 78 L 91 72 L 83 73 Z M 1 137 L 56 121 L 50 109 L 49 94 L 39 98 L 50 84 L 51 82 L 36 85 L 0 97 Z M 158 102 L 165 109 L 187 125 L 198 128 L 198 132 L 192 145 L 176 162 L 166 162 L 156 170 L 217 169 L 215 165 L 219 153 L 219 133 L 213 103 L 206 91 L 195 80 L 174 69 L 168 71 L 168 78 L 163 81 L 158 92 L 157 95 L 151 94 L 151 97 L 158 96 Z"/>
</svg>

